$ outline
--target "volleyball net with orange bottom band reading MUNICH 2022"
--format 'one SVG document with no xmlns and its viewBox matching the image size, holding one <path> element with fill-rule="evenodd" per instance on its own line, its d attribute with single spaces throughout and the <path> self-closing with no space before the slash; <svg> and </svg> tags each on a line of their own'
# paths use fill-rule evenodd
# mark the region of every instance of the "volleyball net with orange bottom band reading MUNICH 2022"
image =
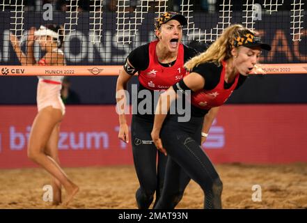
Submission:
<svg viewBox="0 0 307 223">
<path fill-rule="evenodd" d="M 0 0 L 0 76 L 118 75 L 129 52 L 155 40 L 155 17 L 178 11 L 187 17 L 183 43 L 200 51 L 230 24 L 260 33 L 272 47 L 263 52 L 266 74 L 307 73 L 306 3 L 303 0 Z M 10 43 L 16 36 L 23 52 L 31 27 L 61 24 L 61 49 L 67 66 L 21 64 Z M 44 52 L 36 40 L 33 54 Z"/>
</svg>

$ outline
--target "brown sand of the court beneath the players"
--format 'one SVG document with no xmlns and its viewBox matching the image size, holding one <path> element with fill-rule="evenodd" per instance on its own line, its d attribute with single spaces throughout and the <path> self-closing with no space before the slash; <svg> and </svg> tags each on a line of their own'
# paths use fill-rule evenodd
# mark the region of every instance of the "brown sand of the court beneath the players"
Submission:
<svg viewBox="0 0 307 223">
<path fill-rule="evenodd" d="M 65 171 L 80 191 L 69 206 L 52 206 L 42 199 L 42 187 L 50 183 L 45 170 L 0 169 L 0 208 L 136 208 L 134 167 Z M 223 180 L 223 208 L 307 208 L 307 164 L 220 164 L 217 171 Z M 261 186 L 261 201 L 252 200 L 253 185 Z M 203 192 L 193 181 L 178 208 L 203 208 Z"/>
</svg>

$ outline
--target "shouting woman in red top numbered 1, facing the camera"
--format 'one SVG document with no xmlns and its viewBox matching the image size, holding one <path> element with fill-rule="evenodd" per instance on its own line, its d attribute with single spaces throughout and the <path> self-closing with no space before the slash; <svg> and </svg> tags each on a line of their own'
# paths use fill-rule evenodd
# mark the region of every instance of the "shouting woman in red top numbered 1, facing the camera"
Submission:
<svg viewBox="0 0 307 223">
<path fill-rule="evenodd" d="M 138 99 L 133 107 L 132 116 L 132 151 L 134 166 L 139 178 L 140 187 L 136 191 L 136 201 L 139 208 L 149 208 L 155 192 L 156 201 L 162 190 L 166 157 L 157 153 L 155 144 L 150 137 L 154 120 L 154 92 L 166 90 L 178 82 L 185 74 L 184 62 L 191 59 L 198 52 L 195 49 L 182 45 L 182 26 L 187 24 L 183 15 L 177 13 L 164 13 L 156 22 L 157 40 L 134 49 L 125 62 L 124 71 L 119 75 L 116 86 L 116 99 L 118 101 L 120 131 L 118 138 L 129 141 L 129 129 L 125 118 L 125 108 L 119 104 L 126 100 L 123 90 L 127 88 L 127 82 L 138 72 L 139 91 L 148 93 L 151 97 Z M 122 92 L 122 93 L 120 93 Z M 158 99 L 157 94 L 156 100 Z M 148 102 L 148 107 L 141 102 Z M 151 105 L 151 107 L 150 107 Z M 137 111 L 136 111 L 137 110 Z M 158 166 L 157 166 L 158 155 Z M 189 178 L 182 184 L 189 183 Z M 182 194 L 178 194 L 180 201 Z"/>
</svg>

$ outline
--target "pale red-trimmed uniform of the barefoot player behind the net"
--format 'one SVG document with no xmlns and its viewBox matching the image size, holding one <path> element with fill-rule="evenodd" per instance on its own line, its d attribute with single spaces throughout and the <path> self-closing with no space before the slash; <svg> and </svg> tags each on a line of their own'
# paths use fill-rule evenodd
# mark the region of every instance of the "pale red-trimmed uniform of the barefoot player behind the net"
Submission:
<svg viewBox="0 0 307 223">
<path fill-rule="evenodd" d="M 55 49 L 53 52 L 63 55 L 61 49 Z M 45 59 L 38 61 L 40 66 L 47 66 Z M 65 114 L 65 105 L 61 99 L 61 89 L 63 76 L 38 76 L 38 90 L 36 102 L 38 112 L 41 109 L 52 106 L 54 109 L 61 109 L 62 114 Z"/>
</svg>

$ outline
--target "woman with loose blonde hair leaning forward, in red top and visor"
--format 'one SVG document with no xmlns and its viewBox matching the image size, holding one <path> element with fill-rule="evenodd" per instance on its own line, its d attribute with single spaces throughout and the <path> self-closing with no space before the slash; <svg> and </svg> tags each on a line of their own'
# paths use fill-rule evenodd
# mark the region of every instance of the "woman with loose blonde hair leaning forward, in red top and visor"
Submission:
<svg viewBox="0 0 307 223">
<path fill-rule="evenodd" d="M 189 75 L 160 95 L 151 135 L 157 149 L 169 157 L 162 197 L 156 208 L 175 207 L 173 192 L 181 187 L 178 182 L 182 171 L 203 189 L 205 208 L 221 208 L 221 179 L 200 147 L 203 116 L 213 107 L 223 105 L 245 81 L 254 69 L 261 49 L 270 50 L 271 47 L 262 43 L 260 37 L 249 29 L 239 24 L 230 26 L 206 52 L 185 63 Z M 190 120 L 180 123 L 178 114 L 166 118 L 164 114 L 169 109 L 166 102 L 179 100 L 180 95 L 189 92 Z M 164 113 L 159 114 L 160 109 Z"/>
</svg>

